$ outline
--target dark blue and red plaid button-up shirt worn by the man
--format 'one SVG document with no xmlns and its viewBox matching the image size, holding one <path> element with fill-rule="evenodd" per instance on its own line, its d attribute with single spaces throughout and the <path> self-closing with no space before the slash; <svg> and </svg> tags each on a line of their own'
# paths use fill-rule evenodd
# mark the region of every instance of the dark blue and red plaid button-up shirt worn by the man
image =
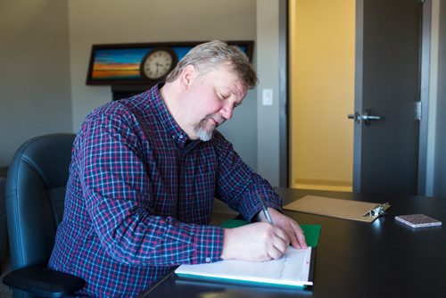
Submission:
<svg viewBox="0 0 446 298">
<path fill-rule="evenodd" d="M 155 86 L 83 122 L 49 266 L 83 277 L 79 294 L 136 295 L 172 266 L 220 260 L 223 229 L 208 226 L 214 197 L 252 219 L 259 195 L 281 208 L 219 132 L 188 140 Z"/>
</svg>

